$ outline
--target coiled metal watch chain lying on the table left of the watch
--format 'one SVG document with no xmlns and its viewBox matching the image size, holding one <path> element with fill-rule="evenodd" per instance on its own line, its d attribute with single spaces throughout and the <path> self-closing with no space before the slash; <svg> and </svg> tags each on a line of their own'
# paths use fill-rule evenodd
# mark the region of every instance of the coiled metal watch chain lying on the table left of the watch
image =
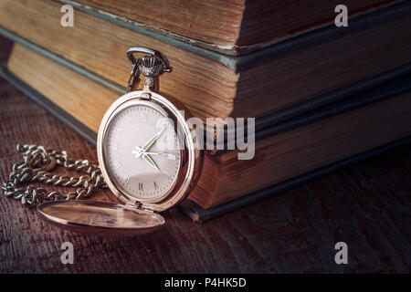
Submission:
<svg viewBox="0 0 411 292">
<path fill-rule="evenodd" d="M 8 181 L 2 184 L 6 197 L 20 200 L 28 207 L 36 206 L 45 201 L 78 200 L 88 198 L 95 189 L 107 188 L 97 162 L 70 161 L 66 151 L 46 150 L 37 145 L 16 145 L 16 151 L 21 152 L 23 161 L 13 165 L 13 171 Z M 57 175 L 50 173 L 55 166 L 62 166 L 69 171 L 85 173 L 80 176 Z M 43 188 L 35 188 L 29 184 L 26 189 L 23 183 L 46 183 L 55 186 L 77 187 L 69 193 L 48 192 Z"/>
</svg>

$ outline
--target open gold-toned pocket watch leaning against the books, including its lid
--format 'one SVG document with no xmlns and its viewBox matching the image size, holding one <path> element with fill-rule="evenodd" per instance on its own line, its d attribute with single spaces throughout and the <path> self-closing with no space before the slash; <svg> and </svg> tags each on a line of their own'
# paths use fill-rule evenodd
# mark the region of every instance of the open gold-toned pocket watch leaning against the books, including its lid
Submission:
<svg viewBox="0 0 411 292">
<path fill-rule="evenodd" d="M 142 57 L 136 57 L 142 54 Z M 144 235 L 161 228 L 160 212 L 181 203 L 201 172 L 190 113 L 184 105 L 158 92 L 159 77 L 170 72 L 162 53 L 132 47 L 128 93 L 105 113 L 98 133 L 100 172 L 121 203 L 49 201 L 37 211 L 48 223 L 80 233 Z M 139 76 L 142 89 L 133 90 Z"/>
</svg>

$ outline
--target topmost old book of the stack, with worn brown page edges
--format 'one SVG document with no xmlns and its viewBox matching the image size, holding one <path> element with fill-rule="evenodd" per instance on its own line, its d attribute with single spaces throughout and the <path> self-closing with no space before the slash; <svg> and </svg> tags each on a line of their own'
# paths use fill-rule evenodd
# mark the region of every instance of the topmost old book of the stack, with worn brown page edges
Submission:
<svg viewBox="0 0 411 292">
<path fill-rule="evenodd" d="M 60 1 L 79 10 L 228 55 L 249 53 L 333 24 L 341 1 Z M 395 0 L 344 1 L 354 16 L 395 5 Z"/>
</svg>

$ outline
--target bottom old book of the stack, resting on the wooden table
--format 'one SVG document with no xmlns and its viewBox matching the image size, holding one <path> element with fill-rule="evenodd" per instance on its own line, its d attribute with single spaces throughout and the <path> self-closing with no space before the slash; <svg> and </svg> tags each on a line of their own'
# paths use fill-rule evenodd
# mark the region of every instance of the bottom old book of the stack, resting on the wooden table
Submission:
<svg viewBox="0 0 411 292">
<path fill-rule="evenodd" d="M 88 97 L 83 99 L 86 103 L 79 107 L 79 103 L 74 102 L 71 105 L 73 111 L 86 110 L 103 102 L 104 96 L 111 95 L 96 82 L 20 45 L 14 47 L 8 68 L 26 83 L 28 87 L 23 86 L 23 89 L 40 101 L 65 99 L 69 102 L 75 96 L 85 94 Z M 34 70 L 37 71 L 35 75 L 31 74 Z M 9 79 L 13 81 L 13 78 Z M 410 136 L 410 89 L 408 74 L 259 130 L 256 155 L 249 161 L 237 160 L 237 151 L 219 155 L 206 151 L 203 172 L 189 199 L 204 209 L 216 207 Z M 37 94 L 30 93 L 32 91 Z M 113 100 L 116 96 L 112 94 Z M 56 104 L 46 105 L 58 113 Z M 75 120 L 67 112 L 60 118 Z M 78 124 L 72 122 L 72 125 Z M 82 133 L 87 135 L 85 131 Z"/>
</svg>

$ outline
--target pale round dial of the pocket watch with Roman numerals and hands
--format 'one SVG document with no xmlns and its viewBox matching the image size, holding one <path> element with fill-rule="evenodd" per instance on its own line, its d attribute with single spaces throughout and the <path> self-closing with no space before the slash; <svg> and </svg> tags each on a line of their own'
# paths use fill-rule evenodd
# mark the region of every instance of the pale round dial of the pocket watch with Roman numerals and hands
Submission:
<svg viewBox="0 0 411 292">
<path fill-rule="evenodd" d="M 111 182 L 139 201 L 170 193 L 181 167 L 174 120 L 155 106 L 132 105 L 111 119 L 103 141 Z"/>
</svg>

